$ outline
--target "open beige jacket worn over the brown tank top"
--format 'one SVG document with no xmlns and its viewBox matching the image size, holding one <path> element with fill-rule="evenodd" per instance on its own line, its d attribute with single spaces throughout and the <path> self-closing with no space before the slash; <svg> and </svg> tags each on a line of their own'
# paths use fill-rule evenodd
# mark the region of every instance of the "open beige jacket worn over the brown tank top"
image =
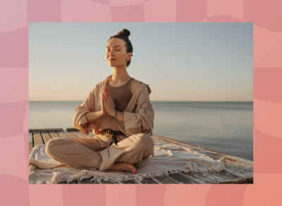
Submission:
<svg viewBox="0 0 282 206">
<path fill-rule="evenodd" d="M 152 136 L 154 128 L 154 110 L 152 103 L 149 101 L 149 94 L 152 91 L 148 84 L 141 84 L 133 94 L 128 106 L 124 110 L 125 122 L 116 120 L 109 114 L 104 115 L 94 122 L 87 122 L 85 117 L 86 112 L 102 110 L 101 101 L 103 87 L 106 86 L 111 76 L 106 77 L 106 80 L 96 84 L 82 105 L 78 105 L 75 108 L 73 127 L 79 129 L 80 132 L 85 135 L 88 135 L 90 129 L 92 129 L 93 134 L 95 134 L 94 138 L 99 140 L 102 147 L 108 147 L 111 143 L 111 138 L 103 129 L 120 130 L 123 131 L 127 137 L 139 133 Z M 120 138 L 124 139 L 125 137 L 120 136 Z"/>
</svg>

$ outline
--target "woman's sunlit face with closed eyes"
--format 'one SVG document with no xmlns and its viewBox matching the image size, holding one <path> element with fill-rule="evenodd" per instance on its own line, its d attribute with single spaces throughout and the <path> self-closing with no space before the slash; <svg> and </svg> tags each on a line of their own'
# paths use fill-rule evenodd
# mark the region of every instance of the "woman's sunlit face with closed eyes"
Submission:
<svg viewBox="0 0 282 206">
<path fill-rule="evenodd" d="M 115 60 L 110 60 L 114 58 Z M 119 67 L 127 63 L 128 53 L 126 53 L 125 41 L 114 38 L 106 44 L 106 63 L 110 67 Z"/>
</svg>

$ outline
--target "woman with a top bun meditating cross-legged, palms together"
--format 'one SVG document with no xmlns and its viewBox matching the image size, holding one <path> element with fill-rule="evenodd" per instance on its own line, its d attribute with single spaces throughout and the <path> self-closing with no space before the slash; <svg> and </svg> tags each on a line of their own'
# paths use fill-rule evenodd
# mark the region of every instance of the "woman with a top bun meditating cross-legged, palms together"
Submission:
<svg viewBox="0 0 282 206">
<path fill-rule="evenodd" d="M 75 169 L 97 168 L 138 173 L 154 155 L 154 110 L 148 84 L 128 75 L 126 67 L 133 46 L 126 29 L 109 38 L 106 62 L 113 75 L 94 86 L 82 105 L 75 108 L 73 127 L 93 138 L 51 139 L 46 153 Z"/>
</svg>

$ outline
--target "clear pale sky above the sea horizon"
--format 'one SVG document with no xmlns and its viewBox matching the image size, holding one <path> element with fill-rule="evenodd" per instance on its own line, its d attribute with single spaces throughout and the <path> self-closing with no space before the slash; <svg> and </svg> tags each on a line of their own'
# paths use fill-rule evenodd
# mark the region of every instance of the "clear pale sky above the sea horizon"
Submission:
<svg viewBox="0 0 282 206">
<path fill-rule="evenodd" d="M 150 101 L 252 101 L 252 22 L 30 22 L 29 100 L 85 101 L 113 74 L 106 43 L 123 29 Z"/>
</svg>

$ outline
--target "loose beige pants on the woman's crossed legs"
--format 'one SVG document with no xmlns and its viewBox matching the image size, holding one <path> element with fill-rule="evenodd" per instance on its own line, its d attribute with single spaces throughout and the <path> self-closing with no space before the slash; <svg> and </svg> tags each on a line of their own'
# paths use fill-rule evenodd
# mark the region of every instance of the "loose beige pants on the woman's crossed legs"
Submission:
<svg viewBox="0 0 282 206">
<path fill-rule="evenodd" d="M 150 155 L 154 155 L 154 141 L 148 134 L 133 134 L 125 139 L 118 137 L 117 142 L 102 148 L 94 138 L 58 137 L 47 142 L 45 151 L 54 160 L 74 169 L 96 168 L 101 172 L 111 169 L 114 162 L 128 162 L 140 168 L 147 164 Z"/>
</svg>

